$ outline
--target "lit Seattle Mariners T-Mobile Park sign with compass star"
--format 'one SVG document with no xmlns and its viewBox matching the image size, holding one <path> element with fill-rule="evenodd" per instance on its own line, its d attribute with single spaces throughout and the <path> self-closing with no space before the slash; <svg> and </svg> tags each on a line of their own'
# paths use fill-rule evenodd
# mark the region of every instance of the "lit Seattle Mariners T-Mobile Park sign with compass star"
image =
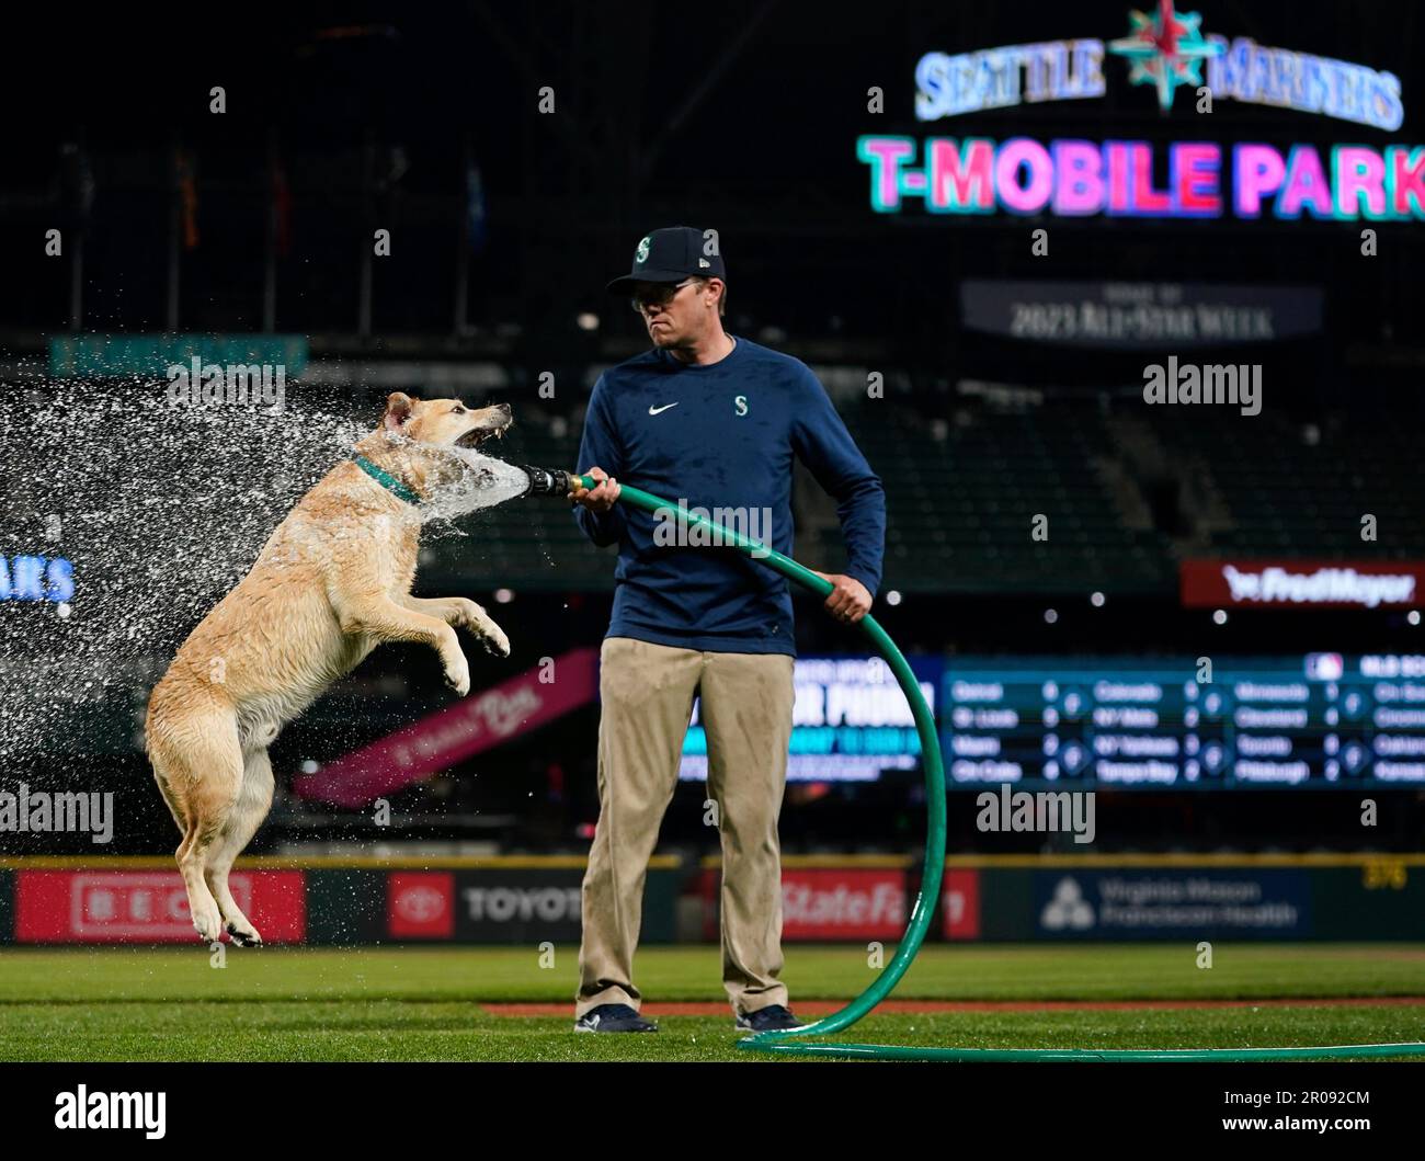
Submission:
<svg viewBox="0 0 1425 1161">
<path fill-rule="evenodd" d="M 1112 41 L 1016 44 L 959 56 L 928 53 L 916 66 L 916 118 L 1040 101 L 1103 97 L 1110 76 L 1149 85 L 1166 114 L 1177 88 L 1190 105 L 1211 98 L 1291 108 L 1392 132 L 1404 120 L 1401 83 L 1367 66 L 1204 36 L 1198 13 L 1164 0 L 1133 11 Z M 1117 61 L 1113 61 L 1117 64 Z M 1166 157 L 1156 150 L 1166 148 Z M 1419 221 L 1425 147 L 1352 141 L 1282 150 L 1257 141 L 1089 141 L 1033 137 L 868 134 L 856 157 L 871 175 L 871 205 L 898 214 L 1052 214 L 1056 217 Z M 1157 174 L 1166 172 L 1166 181 Z"/>
</svg>

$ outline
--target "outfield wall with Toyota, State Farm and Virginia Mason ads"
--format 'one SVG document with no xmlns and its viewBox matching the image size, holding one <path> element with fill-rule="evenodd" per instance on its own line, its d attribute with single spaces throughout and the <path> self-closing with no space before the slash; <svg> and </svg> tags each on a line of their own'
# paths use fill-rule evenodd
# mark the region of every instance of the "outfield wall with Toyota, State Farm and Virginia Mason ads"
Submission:
<svg viewBox="0 0 1425 1161">
<path fill-rule="evenodd" d="M 919 887 L 899 856 L 784 858 L 782 937 L 896 942 Z M 580 933 L 584 859 L 242 859 L 268 943 L 527 944 Z M 718 940 L 720 860 L 657 856 L 644 943 Z M 1425 940 L 1425 855 L 956 856 L 932 939 Z M 0 862 L 0 943 L 191 943 L 171 860 Z"/>
</svg>

